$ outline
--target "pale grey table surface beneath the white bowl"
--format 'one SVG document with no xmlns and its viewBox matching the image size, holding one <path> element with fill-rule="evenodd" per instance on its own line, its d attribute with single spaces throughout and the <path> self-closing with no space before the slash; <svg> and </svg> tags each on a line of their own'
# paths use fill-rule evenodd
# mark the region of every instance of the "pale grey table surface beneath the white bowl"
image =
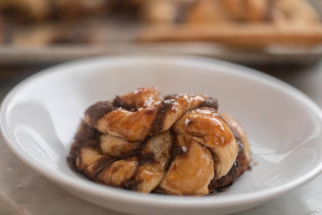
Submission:
<svg viewBox="0 0 322 215">
<path fill-rule="evenodd" d="M 307 68 L 265 67 L 259 69 L 295 86 L 322 107 L 322 62 Z M 12 74 L 10 69 L 1 68 L 0 73 Z M 24 73 L 24 76 L 30 73 Z M 1 80 L 1 78 L 0 75 L 0 83 L 2 81 L 1 84 L 5 87 L 0 86 L 3 90 L 2 94 L 0 92 L 0 99 L 4 95 L 3 92 L 6 93 L 12 88 L 8 85 L 8 81 Z M 117 215 L 120 213 L 99 208 L 62 190 L 18 160 L 0 139 L 0 215 L 6 214 Z M 238 214 L 322 214 L 322 175 L 283 196 Z"/>
</svg>

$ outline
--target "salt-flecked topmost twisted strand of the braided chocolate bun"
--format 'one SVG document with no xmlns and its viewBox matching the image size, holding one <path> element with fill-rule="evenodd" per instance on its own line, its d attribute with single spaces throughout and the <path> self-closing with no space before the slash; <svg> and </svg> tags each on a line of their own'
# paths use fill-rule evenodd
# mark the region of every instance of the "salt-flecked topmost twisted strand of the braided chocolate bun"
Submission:
<svg viewBox="0 0 322 215">
<path fill-rule="evenodd" d="M 122 107 L 113 110 L 114 106 L 111 103 L 100 102 L 91 106 L 85 112 L 85 122 L 99 132 L 124 137 L 131 142 L 144 142 L 150 136 L 169 130 L 173 123 L 186 111 L 202 105 L 215 106 L 216 104 L 216 100 L 204 95 L 188 96 L 182 94 L 175 99 L 154 102 L 155 98 L 160 99 L 156 90 L 154 93 L 142 91 L 140 95 L 144 99 L 137 99 L 139 93 L 138 91 L 123 96 L 130 101 L 126 106 L 132 107 L 134 101 L 138 101 L 138 103 L 135 103 L 135 107 L 139 107 L 137 111 L 133 112 Z M 129 99 L 131 96 L 136 99 Z M 146 98 L 149 98 L 149 100 L 146 100 Z M 145 102 L 141 107 L 143 101 Z M 122 104 L 125 103 L 122 102 Z M 103 106 L 105 109 L 102 108 Z M 103 115 L 104 113 L 106 114 Z"/>
</svg>

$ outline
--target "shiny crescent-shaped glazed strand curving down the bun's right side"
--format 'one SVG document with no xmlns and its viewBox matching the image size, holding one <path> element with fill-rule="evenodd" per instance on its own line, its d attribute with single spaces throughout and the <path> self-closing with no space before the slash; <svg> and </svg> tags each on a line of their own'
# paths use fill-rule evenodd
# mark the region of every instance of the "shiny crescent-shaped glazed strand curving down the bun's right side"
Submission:
<svg viewBox="0 0 322 215">
<path fill-rule="evenodd" d="M 216 179 L 231 169 L 238 153 L 238 145 L 227 124 L 208 107 L 186 112 L 173 130 L 208 147 L 218 158 Z"/>
</svg>

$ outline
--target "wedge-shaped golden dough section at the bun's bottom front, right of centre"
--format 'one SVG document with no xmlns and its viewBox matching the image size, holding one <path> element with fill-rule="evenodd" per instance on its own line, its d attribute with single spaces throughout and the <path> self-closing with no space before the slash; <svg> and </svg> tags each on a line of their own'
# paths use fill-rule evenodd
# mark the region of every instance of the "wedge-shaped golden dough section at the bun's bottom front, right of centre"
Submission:
<svg viewBox="0 0 322 215">
<path fill-rule="evenodd" d="M 207 195 L 208 184 L 214 177 L 212 155 L 193 139 L 185 143 L 186 151 L 175 156 L 159 187 L 168 194 Z"/>
</svg>

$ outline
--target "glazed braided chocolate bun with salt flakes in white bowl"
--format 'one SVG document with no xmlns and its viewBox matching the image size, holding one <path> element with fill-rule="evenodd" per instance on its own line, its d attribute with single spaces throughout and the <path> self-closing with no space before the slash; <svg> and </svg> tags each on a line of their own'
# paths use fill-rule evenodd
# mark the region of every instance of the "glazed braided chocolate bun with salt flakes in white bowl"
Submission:
<svg viewBox="0 0 322 215">
<path fill-rule="evenodd" d="M 207 195 L 249 167 L 245 131 L 205 95 L 138 88 L 90 106 L 68 161 L 91 180 L 143 193 Z"/>
</svg>

